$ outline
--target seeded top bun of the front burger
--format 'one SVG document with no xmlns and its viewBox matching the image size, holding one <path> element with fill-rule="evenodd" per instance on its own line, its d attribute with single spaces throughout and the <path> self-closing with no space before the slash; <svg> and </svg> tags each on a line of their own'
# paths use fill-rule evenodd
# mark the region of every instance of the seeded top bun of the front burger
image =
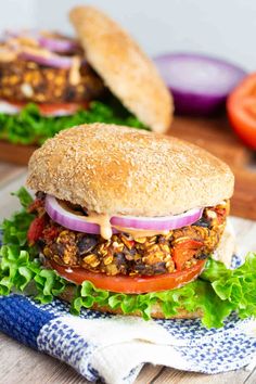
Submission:
<svg viewBox="0 0 256 384">
<path fill-rule="evenodd" d="M 166 216 L 233 193 L 230 168 L 172 137 L 106 124 L 61 131 L 34 152 L 27 184 L 99 214 Z"/>
</svg>

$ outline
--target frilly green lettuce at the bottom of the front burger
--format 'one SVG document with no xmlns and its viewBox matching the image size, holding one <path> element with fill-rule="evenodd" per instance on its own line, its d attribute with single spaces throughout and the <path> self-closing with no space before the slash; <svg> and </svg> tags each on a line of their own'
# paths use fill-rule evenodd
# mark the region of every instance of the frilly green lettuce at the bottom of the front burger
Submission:
<svg viewBox="0 0 256 384">
<path fill-rule="evenodd" d="M 256 253 L 247 254 L 244 264 L 234 270 L 210 258 L 196 281 L 176 290 L 129 295 L 97 289 L 89 281 L 78 286 L 40 265 L 37 249 L 29 247 L 26 241 L 26 232 L 34 219 L 25 210 L 30 199 L 25 189 L 21 189 L 16 195 L 23 208 L 2 225 L 1 295 L 26 290 L 30 294 L 33 292 L 40 303 L 50 303 L 68 287 L 74 291 L 73 313 L 78 315 L 82 308 L 99 305 L 120 309 L 124 313 L 140 312 L 149 320 L 151 308 L 157 303 L 166 317 L 178 313 L 181 308 L 189 312 L 201 309 L 202 323 L 206 328 L 222 327 L 223 320 L 232 311 L 236 311 L 242 319 L 256 317 Z"/>
</svg>

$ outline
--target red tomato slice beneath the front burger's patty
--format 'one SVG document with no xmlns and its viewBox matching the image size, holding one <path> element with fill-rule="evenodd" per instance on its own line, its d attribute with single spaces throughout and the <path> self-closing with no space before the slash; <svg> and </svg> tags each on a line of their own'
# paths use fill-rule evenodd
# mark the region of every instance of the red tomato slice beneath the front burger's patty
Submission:
<svg viewBox="0 0 256 384">
<path fill-rule="evenodd" d="M 61 277 L 78 285 L 84 281 L 90 281 L 98 289 L 129 294 L 158 292 L 180 287 L 190 281 L 195 280 L 203 271 L 205 263 L 206 260 L 199 260 L 199 263 L 192 268 L 180 272 L 136 278 L 93 273 L 84 268 L 74 268 L 72 269 L 72 272 L 68 272 L 68 270 L 71 270 L 68 267 L 60 266 L 52 260 L 49 261 L 51 267 L 55 269 Z"/>
</svg>

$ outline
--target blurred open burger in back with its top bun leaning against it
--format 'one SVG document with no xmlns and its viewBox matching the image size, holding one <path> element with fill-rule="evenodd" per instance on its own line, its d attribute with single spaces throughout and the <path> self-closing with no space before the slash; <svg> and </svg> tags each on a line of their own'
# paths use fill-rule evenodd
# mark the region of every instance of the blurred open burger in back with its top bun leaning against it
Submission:
<svg viewBox="0 0 256 384">
<path fill-rule="evenodd" d="M 61 129 L 115 123 L 164 132 L 171 97 L 153 62 L 92 7 L 72 10 L 77 38 L 7 31 L 0 42 L 0 139 L 40 144 Z"/>
</svg>

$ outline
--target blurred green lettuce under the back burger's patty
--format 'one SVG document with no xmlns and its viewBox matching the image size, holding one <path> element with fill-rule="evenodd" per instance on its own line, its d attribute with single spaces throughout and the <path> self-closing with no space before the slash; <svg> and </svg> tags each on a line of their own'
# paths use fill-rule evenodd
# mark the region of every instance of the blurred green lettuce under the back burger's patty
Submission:
<svg viewBox="0 0 256 384">
<path fill-rule="evenodd" d="M 0 113 L 0 139 L 12 143 L 41 144 L 62 129 L 85 123 L 108 123 L 144 128 L 117 100 L 90 103 L 89 110 L 79 110 L 71 116 L 43 117 L 36 104 L 27 104 L 17 115 Z"/>
</svg>

